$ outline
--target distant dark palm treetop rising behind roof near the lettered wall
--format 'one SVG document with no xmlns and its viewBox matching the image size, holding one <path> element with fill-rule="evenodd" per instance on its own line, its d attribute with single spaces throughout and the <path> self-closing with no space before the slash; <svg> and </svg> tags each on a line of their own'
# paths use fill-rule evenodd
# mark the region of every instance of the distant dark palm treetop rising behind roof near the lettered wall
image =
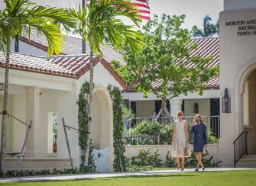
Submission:
<svg viewBox="0 0 256 186">
<path fill-rule="evenodd" d="M 217 25 L 211 23 L 212 18 L 209 15 L 206 15 L 203 18 L 203 30 L 199 29 L 198 27 L 194 26 L 195 29 L 194 37 L 212 37 L 214 34 L 217 34 Z"/>
</svg>

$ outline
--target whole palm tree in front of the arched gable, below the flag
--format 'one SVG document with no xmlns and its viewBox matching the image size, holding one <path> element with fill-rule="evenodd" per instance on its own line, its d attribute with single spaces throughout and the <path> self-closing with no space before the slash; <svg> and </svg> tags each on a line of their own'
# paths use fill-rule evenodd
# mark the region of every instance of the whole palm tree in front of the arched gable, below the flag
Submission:
<svg viewBox="0 0 256 186">
<path fill-rule="evenodd" d="M 71 10 L 77 20 L 78 33 L 83 41 L 89 42 L 89 69 L 90 69 L 90 90 L 89 90 L 89 117 L 92 113 L 92 91 L 93 91 L 93 55 L 102 56 L 101 46 L 110 43 L 118 49 L 125 41 L 132 50 L 141 48 L 141 35 L 134 30 L 133 26 L 125 25 L 120 19 L 121 16 L 129 18 L 137 26 L 141 22 L 136 7 L 128 0 L 92 0 L 87 8 L 78 11 Z M 88 132 L 91 128 L 91 121 L 88 123 Z M 88 165 L 89 140 L 87 135 L 85 159 L 82 165 Z"/>
</svg>

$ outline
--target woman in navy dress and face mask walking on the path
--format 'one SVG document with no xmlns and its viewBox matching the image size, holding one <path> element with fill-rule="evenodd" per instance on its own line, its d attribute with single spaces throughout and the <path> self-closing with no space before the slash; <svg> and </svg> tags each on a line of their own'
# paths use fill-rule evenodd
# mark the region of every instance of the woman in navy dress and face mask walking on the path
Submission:
<svg viewBox="0 0 256 186">
<path fill-rule="evenodd" d="M 197 160 L 195 171 L 198 171 L 200 166 L 205 170 L 202 162 L 202 156 L 203 148 L 205 147 L 207 149 L 207 127 L 206 124 L 203 123 L 203 118 L 200 114 L 197 114 L 193 120 L 191 133 L 193 133 L 193 149 Z"/>
</svg>

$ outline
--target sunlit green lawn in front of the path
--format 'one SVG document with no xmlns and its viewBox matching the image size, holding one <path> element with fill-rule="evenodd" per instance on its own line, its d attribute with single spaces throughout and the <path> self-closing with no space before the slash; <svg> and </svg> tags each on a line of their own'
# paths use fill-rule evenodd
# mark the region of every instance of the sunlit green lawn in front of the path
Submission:
<svg viewBox="0 0 256 186">
<path fill-rule="evenodd" d="M 134 176 L 122 178 L 99 178 L 79 181 L 49 181 L 49 182 L 30 182 L 17 184 L 2 185 L 256 185 L 256 170 L 246 171 L 229 171 L 229 172 L 195 172 L 195 173 L 177 173 L 169 175 L 150 175 L 150 176 Z"/>
</svg>

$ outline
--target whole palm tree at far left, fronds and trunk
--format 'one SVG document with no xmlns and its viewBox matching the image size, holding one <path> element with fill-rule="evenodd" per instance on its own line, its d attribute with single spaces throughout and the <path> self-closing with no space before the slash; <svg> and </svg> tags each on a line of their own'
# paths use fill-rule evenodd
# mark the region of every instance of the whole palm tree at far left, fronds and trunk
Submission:
<svg viewBox="0 0 256 186">
<path fill-rule="evenodd" d="M 27 34 L 30 36 L 31 27 L 34 27 L 37 29 L 37 34 L 44 34 L 47 38 L 47 55 L 50 56 L 53 53 L 58 55 L 61 52 L 63 43 L 60 25 L 63 25 L 66 30 L 74 26 L 73 19 L 62 8 L 37 6 L 30 0 L 4 0 L 4 2 L 6 6 L 0 11 L 0 50 L 3 50 L 6 55 L 0 170 L 2 170 L 5 149 L 11 41 L 15 40 L 15 35 L 17 34 Z M 32 5 L 34 6 L 33 8 L 31 8 Z"/>
</svg>

